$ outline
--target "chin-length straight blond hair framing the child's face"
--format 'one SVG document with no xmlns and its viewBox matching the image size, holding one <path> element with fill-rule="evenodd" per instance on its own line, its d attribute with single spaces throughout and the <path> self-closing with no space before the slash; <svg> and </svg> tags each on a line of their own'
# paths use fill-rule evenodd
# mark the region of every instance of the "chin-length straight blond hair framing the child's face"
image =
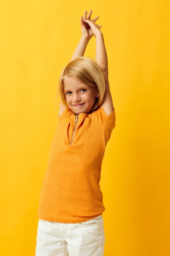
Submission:
<svg viewBox="0 0 170 256">
<path fill-rule="evenodd" d="M 87 56 L 88 57 L 88 56 Z M 99 97 L 96 97 L 93 107 L 90 112 L 93 112 L 102 104 L 102 100 L 105 94 L 105 78 L 96 60 L 92 60 L 87 57 L 77 57 L 73 61 L 69 62 L 63 69 L 59 77 L 58 93 L 61 99 L 62 105 L 68 108 L 65 94 L 63 80 L 66 77 L 77 79 L 82 81 L 89 87 L 98 88 Z M 92 57 L 93 58 L 93 57 Z"/>
</svg>

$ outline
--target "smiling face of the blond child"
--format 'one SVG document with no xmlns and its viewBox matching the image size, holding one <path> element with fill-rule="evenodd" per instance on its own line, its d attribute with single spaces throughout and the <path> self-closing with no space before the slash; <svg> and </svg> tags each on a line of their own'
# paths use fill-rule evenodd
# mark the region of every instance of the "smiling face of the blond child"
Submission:
<svg viewBox="0 0 170 256">
<path fill-rule="evenodd" d="M 90 112 L 96 97 L 99 97 L 98 89 L 70 77 L 65 78 L 63 84 L 68 107 L 77 115 Z M 77 104 L 83 105 L 76 107 Z"/>
</svg>

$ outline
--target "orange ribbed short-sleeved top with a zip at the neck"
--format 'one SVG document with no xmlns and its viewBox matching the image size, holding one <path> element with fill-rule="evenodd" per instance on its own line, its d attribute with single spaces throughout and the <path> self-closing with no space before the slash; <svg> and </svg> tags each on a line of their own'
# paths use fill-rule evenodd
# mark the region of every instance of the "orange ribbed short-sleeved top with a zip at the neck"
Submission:
<svg viewBox="0 0 170 256">
<path fill-rule="evenodd" d="M 102 106 L 76 116 L 70 108 L 59 116 L 40 193 L 38 218 L 79 223 L 105 211 L 101 178 L 105 146 L 115 127 L 115 110 Z"/>
</svg>

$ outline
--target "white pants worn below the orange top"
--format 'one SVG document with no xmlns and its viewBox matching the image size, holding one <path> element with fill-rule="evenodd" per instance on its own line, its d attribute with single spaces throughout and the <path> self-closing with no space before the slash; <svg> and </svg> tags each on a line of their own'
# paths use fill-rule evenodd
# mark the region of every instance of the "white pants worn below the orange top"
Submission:
<svg viewBox="0 0 170 256">
<path fill-rule="evenodd" d="M 102 215 L 75 224 L 39 219 L 35 256 L 103 256 L 104 244 Z"/>
</svg>

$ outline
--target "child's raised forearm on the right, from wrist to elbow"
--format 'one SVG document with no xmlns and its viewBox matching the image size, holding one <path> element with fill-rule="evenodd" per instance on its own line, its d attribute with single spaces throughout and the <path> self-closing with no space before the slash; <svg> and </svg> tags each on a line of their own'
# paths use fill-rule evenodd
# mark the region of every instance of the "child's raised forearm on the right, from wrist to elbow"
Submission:
<svg viewBox="0 0 170 256">
<path fill-rule="evenodd" d="M 96 62 L 100 70 L 108 73 L 108 56 L 102 32 L 96 35 Z"/>
</svg>

